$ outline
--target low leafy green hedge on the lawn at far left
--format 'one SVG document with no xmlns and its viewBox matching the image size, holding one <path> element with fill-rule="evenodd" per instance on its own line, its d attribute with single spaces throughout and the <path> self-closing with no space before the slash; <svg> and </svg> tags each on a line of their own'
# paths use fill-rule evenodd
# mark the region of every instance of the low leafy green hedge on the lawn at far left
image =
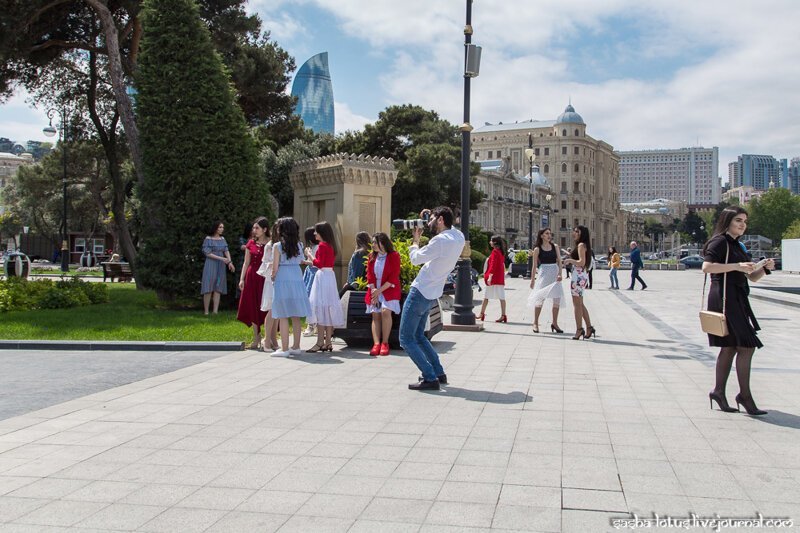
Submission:
<svg viewBox="0 0 800 533">
<path fill-rule="evenodd" d="M 33 309 L 62 309 L 108 302 L 108 288 L 103 283 L 89 283 L 78 278 L 53 281 L 28 281 L 10 278 L 0 281 L 0 313 Z"/>
</svg>

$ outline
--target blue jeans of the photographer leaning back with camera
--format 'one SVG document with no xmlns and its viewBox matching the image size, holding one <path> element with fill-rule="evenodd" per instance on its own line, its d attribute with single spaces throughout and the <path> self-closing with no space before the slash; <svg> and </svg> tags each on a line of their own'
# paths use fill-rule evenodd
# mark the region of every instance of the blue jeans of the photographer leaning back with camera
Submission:
<svg viewBox="0 0 800 533">
<path fill-rule="evenodd" d="M 425 337 L 425 325 L 434 300 L 428 300 L 416 287 L 411 287 L 400 316 L 400 346 L 422 372 L 425 381 L 436 381 L 444 374 L 439 354 Z"/>
</svg>

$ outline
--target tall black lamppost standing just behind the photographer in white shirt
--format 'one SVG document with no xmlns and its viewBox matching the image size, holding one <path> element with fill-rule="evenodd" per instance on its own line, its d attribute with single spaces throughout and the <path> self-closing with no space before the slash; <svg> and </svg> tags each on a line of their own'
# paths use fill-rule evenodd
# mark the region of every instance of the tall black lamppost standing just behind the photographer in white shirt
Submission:
<svg viewBox="0 0 800 533">
<path fill-rule="evenodd" d="M 467 1 L 467 22 L 464 26 L 464 123 L 461 130 L 461 232 L 464 234 L 464 251 L 458 260 L 456 294 L 451 322 L 460 326 L 474 326 L 475 313 L 472 311 L 472 261 L 469 246 L 469 197 L 470 180 L 469 154 L 471 149 L 469 123 L 470 80 L 478 76 L 481 61 L 481 48 L 472 44 L 472 0 Z"/>
</svg>

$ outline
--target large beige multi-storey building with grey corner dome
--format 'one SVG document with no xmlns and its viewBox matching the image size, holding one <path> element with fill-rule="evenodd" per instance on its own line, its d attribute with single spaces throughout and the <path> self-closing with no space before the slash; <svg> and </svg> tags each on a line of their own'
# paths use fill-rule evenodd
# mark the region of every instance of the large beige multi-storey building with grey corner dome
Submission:
<svg viewBox="0 0 800 533">
<path fill-rule="evenodd" d="M 589 228 L 595 249 L 622 242 L 626 229 L 618 216 L 619 156 L 610 144 L 586 134 L 586 123 L 572 105 L 568 105 L 556 120 L 486 123 L 476 128 L 472 132 L 472 160 L 508 161 L 510 172 L 526 176 L 529 172 L 529 162 L 525 158 L 528 135 L 533 140 L 535 163 L 552 190 L 551 206 L 558 210 L 549 220 L 556 242 L 563 247 L 571 246 L 571 229 L 576 225 Z M 505 185 L 489 183 L 489 176 L 486 181 L 490 187 L 487 194 L 506 197 L 491 189 L 495 185 Z M 516 215 L 511 215 L 511 220 L 516 221 L 514 216 L 520 216 L 519 211 L 523 211 L 525 225 L 516 222 L 515 226 L 508 227 L 527 231 L 527 206 L 519 208 Z M 480 219 L 481 208 L 476 225 L 482 225 Z"/>
</svg>

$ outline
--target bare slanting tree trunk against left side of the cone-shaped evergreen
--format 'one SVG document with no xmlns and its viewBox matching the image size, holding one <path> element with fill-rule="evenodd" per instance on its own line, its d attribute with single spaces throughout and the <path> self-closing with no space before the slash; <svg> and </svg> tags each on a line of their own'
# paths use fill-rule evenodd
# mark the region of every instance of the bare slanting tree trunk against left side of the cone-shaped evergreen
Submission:
<svg viewBox="0 0 800 533">
<path fill-rule="evenodd" d="M 111 85 L 114 88 L 114 99 L 117 102 L 122 126 L 125 128 L 125 134 L 128 138 L 136 179 L 139 185 L 142 185 L 144 183 L 144 172 L 142 169 L 142 152 L 139 146 L 139 129 L 136 126 L 136 117 L 133 114 L 131 99 L 125 90 L 125 73 L 122 68 L 122 56 L 119 52 L 119 32 L 114 23 L 114 17 L 108 9 L 107 0 L 86 0 L 86 3 L 94 9 L 100 18 L 100 25 L 103 28 L 106 48 L 108 49 L 109 75 Z M 114 216 L 117 216 L 116 213 Z"/>
</svg>

